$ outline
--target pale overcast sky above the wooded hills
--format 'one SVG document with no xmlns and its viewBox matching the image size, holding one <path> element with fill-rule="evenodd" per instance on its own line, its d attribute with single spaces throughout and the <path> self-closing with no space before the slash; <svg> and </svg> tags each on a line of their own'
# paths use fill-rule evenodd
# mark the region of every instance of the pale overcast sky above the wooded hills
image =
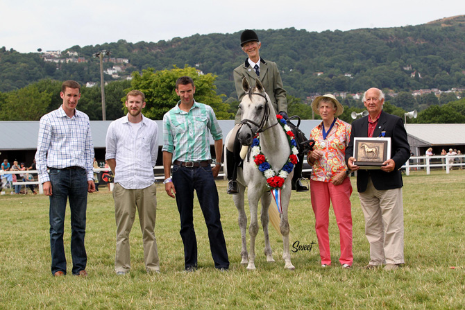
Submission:
<svg viewBox="0 0 465 310">
<path fill-rule="evenodd" d="M 388 28 L 455 15 L 465 15 L 464 0 L 0 0 L 0 46 L 21 53 L 63 51 L 246 28 Z"/>
</svg>

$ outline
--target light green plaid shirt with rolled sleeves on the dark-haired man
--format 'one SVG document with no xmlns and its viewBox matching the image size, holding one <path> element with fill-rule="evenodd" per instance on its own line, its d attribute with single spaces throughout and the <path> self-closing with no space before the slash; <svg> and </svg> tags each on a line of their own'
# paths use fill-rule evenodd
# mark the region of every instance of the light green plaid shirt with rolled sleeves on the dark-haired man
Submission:
<svg viewBox="0 0 465 310">
<path fill-rule="evenodd" d="M 173 153 L 173 161 L 210 160 L 210 131 L 215 141 L 223 139 L 217 117 L 210 105 L 194 101 L 189 112 L 179 108 L 180 101 L 163 116 L 163 151 Z"/>
</svg>

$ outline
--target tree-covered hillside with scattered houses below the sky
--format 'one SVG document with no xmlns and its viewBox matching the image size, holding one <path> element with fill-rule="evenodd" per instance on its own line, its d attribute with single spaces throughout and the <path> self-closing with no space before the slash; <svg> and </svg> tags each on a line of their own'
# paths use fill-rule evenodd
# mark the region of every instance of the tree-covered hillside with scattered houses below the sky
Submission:
<svg viewBox="0 0 465 310">
<path fill-rule="evenodd" d="M 278 64 L 285 88 L 300 98 L 315 92 L 355 93 L 369 87 L 401 92 L 465 85 L 465 15 L 396 28 L 321 33 L 285 28 L 260 30 L 257 34 L 262 41 L 260 55 Z M 3 47 L 0 92 L 43 78 L 99 83 L 99 62 L 92 54 L 106 49 L 112 51 L 112 58 L 128 60 L 122 66 L 121 77 L 148 67 L 158 70 L 188 64 L 205 74 L 216 74 L 217 92 L 236 98 L 233 69 L 246 58 L 239 46 L 239 35 L 240 31 L 175 37 L 157 43 L 119 40 L 72 46 L 62 54 L 77 52 L 85 62 L 70 63 L 44 62 L 43 53 L 17 53 Z M 114 65 L 105 62 L 104 67 Z M 105 80 L 112 78 L 105 75 Z"/>
</svg>

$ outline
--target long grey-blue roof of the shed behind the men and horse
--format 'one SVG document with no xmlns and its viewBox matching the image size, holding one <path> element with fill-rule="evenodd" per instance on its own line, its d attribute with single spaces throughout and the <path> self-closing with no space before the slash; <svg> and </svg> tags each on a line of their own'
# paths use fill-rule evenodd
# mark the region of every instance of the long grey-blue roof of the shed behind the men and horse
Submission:
<svg viewBox="0 0 465 310">
<path fill-rule="evenodd" d="M 108 126 L 112 121 L 90 121 L 94 148 L 105 148 L 105 137 Z M 233 129 L 234 121 L 218 121 L 223 130 L 223 139 Z M 301 130 L 305 135 L 310 135 L 310 130 L 321 121 L 305 120 L 301 122 Z M 158 144 L 163 144 L 163 121 L 158 124 Z M 296 122 L 294 121 L 296 124 Z M 37 148 L 37 135 L 39 133 L 39 121 L 0 121 L 0 150 L 27 150 Z M 214 141 L 210 136 L 210 144 Z"/>
</svg>

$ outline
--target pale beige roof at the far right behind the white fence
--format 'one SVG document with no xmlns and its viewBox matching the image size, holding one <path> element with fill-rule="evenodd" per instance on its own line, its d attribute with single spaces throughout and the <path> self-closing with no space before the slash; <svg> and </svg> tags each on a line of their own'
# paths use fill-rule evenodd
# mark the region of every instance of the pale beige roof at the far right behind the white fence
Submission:
<svg viewBox="0 0 465 310">
<path fill-rule="evenodd" d="M 463 123 L 418 123 L 405 126 L 407 135 L 425 141 L 432 146 L 465 144 Z"/>
</svg>

